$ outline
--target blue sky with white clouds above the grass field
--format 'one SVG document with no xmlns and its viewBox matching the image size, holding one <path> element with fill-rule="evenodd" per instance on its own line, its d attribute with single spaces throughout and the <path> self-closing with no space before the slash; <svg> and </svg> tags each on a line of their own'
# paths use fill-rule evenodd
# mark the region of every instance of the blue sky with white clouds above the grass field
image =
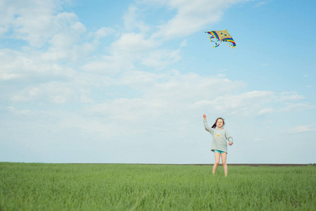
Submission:
<svg viewBox="0 0 316 211">
<path fill-rule="evenodd" d="M 1 0 L 0 161 L 213 163 L 206 113 L 228 163 L 315 163 L 315 7 Z"/>
</svg>

